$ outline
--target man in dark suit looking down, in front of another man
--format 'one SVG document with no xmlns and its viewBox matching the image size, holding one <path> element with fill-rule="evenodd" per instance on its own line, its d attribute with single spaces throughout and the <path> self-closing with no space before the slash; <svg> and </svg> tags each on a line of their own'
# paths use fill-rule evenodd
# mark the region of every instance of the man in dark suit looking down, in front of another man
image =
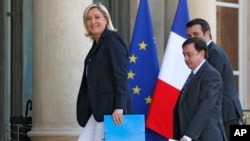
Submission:
<svg viewBox="0 0 250 141">
<path fill-rule="evenodd" d="M 185 63 L 192 70 L 174 109 L 174 138 L 180 141 L 225 141 L 222 120 L 223 83 L 207 61 L 207 45 L 200 38 L 183 45 Z"/>
</svg>

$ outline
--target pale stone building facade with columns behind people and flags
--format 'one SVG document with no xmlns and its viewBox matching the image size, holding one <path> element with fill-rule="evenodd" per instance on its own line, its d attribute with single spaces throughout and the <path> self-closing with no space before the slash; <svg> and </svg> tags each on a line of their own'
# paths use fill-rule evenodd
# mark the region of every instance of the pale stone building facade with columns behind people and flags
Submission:
<svg viewBox="0 0 250 141">
<path fill-rule="evenodd" d="M 148 0 L 159 63 L 178 1 Z M 32 141 L 75 141 L 76 99 L 91 41 L 84 36 L 84 8 L 102 2 L 130 43 L 139 0 L 0 0 L 0 140 L 10 140 L 10 119 L 25 115 L 32 100 Z M 190 19 L 206 19 L 213 40 L 228 53 L 238 96 L 250 115 L 250 2 L 188 0 Z"/>
</svg>

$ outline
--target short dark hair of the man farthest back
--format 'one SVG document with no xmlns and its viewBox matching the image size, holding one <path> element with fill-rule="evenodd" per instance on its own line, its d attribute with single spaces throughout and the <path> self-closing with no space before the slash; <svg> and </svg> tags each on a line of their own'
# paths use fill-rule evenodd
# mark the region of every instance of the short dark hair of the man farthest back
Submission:
<svg viewBox="0 0 250 141">
<path fill-rule="evenodd" d="M 199 24 L 201 26 L 201 30 L 203 33 L 205 33 L 206 31 L 211 31 L 208 22 L 204 19 L 201 19 L 201 18 L 195 18 L 195 19 L 189 21 L 186 24 L 186 28 L 192 27 L 192 26 L 197 25 L 197 24 Z M 212 39 L 211 34 L 210 34 L 210 38 Z"/>
</svg>

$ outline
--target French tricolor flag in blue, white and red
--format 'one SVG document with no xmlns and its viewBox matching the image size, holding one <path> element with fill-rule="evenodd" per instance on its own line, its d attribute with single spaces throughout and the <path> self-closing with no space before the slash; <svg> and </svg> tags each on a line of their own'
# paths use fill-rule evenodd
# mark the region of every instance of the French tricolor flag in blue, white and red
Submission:
<svg viewBox="0 0 250 141">
<path fill-rule="evenodd" d="M 182 54 L 188 21 L 187 0 L 179 0 L 146 121 L 147 128 L 166 138 L 173 138 L 173 110 L 190 73 Z"/>
</svg>

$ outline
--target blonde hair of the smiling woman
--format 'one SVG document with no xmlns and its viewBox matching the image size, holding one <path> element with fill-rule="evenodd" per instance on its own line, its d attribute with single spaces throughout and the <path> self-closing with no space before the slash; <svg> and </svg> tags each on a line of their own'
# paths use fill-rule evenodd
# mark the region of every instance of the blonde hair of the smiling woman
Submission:
<svg viewBox="0 0 250 141">
<path fill-rule="evenodd" d="M 106 25 L 106 26 L 107 26 L 107 29 L 116 31 L 116 29 L 114 28 L 114 26 L 113 26 L 113 24 L 112 24 L 111 17 L 110 17 L 110 14 L 109 14 L 107 8 L 106 8 L 104 5 L 102 5 L 101 3 L 91 4 L 91 5 L 89 5 L 89 6 L 85 9 L 84 14 L 83 14 L 83 23 L 84 23 L 85 30 L 87 31 L 87 32 L 85 33 L 85 35 L 86 35 L 87 37 L 90 37 L 91 39 L 93 39 L 93 35 L 90 33 L 90 31 L 88 30 L 87 25 L 86 25 L 86 16 L 87 16 L 87 13 L 88 13 L 89 10 L 92 9 L 92 8 L 97 8 L 97 9 L 99 9 L 99 10 L 101 11 L 101 13 L 104 15 L 104 17 L 107 18 L 107 20 L 108 20 L 108 23 L 107 23 L 107 25 Z"/>
</svg>

